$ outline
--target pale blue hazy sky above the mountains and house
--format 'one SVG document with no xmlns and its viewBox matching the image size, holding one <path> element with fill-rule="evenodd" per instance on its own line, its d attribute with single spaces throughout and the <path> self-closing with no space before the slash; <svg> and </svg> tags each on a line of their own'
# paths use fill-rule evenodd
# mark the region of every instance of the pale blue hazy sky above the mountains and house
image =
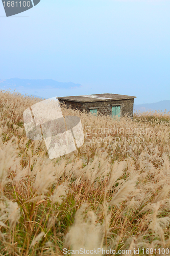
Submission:
<svg viewBox="0 0 170 256">
<path fill-rule="evenodd" d="M 1 79 L 83 86 L 54 96 L 116 93 L 136 96 L 135 104 L 170 100 L 169 1 L 41 0 L 12 17 L 5 17 L 0 2 L 0 36 Z"/>
</svg>

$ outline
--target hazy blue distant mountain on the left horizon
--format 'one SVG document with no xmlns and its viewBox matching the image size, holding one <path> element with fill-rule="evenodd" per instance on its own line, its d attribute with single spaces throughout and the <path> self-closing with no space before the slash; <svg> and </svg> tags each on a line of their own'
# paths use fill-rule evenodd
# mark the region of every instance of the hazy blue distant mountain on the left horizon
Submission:
<svg viewBox="0 0 170 256">
<path fill-rule="evenodd" d="M 29 88 L 29 89 L 72 89 L 81 87 L 80 83 L 74 82 L 58 82 L 53 79 L 20 79 L 10 78 L 6 80 L 0 79 L 1 89 Z"/>
</svg>

